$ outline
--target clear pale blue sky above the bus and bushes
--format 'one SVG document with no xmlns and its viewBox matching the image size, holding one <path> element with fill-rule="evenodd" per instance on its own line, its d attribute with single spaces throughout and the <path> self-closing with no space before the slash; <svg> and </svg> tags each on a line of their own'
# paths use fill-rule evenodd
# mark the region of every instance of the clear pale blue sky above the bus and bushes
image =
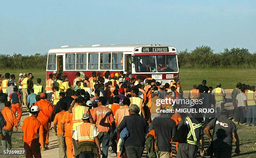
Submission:
<svg viewBox="0 0 256 158">
<path fill-rule="evenodd" d="M 0 54 L 142 43 L 256 52 L 256 0 L 0 1 Z"/>
</svg>

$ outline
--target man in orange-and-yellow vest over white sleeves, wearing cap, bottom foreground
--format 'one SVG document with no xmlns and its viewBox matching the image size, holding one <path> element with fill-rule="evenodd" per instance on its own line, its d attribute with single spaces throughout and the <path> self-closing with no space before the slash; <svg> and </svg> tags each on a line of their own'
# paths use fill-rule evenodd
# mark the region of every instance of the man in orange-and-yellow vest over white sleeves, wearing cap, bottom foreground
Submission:
<svg viewBox="0 0 256 158">
<path fill-rule="evenodd" d="M 90 123 L 90 114 L 82 116 L 84 123 L 78 125 L 74 131 L 73 138 L 78 145 L 79 158 L 95 158 L 101 155 L 99 132 L 95 124 Z"/>
</svg>

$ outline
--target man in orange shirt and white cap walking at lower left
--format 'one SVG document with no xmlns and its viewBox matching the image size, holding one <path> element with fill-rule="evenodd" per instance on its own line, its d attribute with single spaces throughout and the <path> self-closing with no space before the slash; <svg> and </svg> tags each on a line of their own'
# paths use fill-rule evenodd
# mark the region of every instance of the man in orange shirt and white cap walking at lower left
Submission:
<svg viewBox="0 0 256 158">
<path fill-rule="evenodd" d="M 39 144 L 40 121 L 36 119 L 39 113 L 38 106 L 32 106 L 29 111 L 32 116 L 25 118 L 22 126 L 24 149 L 26 158 L 41 158 Z"/>
</svg>

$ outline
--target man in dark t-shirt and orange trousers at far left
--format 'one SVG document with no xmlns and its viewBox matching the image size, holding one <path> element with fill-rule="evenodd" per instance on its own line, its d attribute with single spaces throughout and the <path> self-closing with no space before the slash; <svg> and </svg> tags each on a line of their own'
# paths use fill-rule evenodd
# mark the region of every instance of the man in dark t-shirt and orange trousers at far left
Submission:
<svg viewBox="0 0 256 158">
<path fill-rule="evenodd" d="M 18 123 L 20 122 L 20 118 L 22 116 L 22 107 L 21 107 L 21 99 L 20 94 L 18 93 L 18 88 L 13 88 L 14 93 L 10 94 L 10 102 L 12 103 L 12 110 L 14 111 L 14 114 L 16 114 L 16 111 L 18 111 Z"/>
</svg>

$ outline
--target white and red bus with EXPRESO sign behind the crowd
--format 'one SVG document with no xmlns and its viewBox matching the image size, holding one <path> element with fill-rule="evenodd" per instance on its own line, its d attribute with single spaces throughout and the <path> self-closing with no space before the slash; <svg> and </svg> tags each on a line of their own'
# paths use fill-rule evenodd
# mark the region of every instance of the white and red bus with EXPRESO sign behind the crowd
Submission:
<svg viewBox="0 0 256 158">
<path fill-rule="evenodd" d="M 162 84 L 179 76 L 177 49 L 160 44 L 62 46 L 48 52 L 46 77 L 52 72 L 69 76 L 73 83 L 76 72 L 91 77 L 92 72 L 128 72 L 134 78 L 150 74 Z"/>
</svg>

